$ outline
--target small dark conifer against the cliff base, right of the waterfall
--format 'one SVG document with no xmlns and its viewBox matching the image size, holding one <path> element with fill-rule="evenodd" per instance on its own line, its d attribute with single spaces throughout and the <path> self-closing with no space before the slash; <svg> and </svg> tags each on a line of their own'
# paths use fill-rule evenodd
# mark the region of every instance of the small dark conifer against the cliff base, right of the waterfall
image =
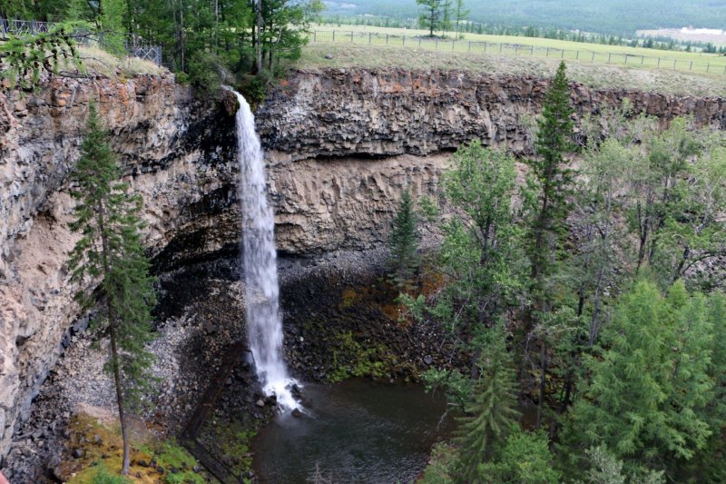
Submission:
<svg viewBox="0 0 726 484">
<path fill-rule="evenodd" d="M 399 289 L 407 288 L 418 267 L 417 214 L 411 193 L 406 189 L 401 195 L 398 210 L 393 219 L 388 261 L 389 277 Z"/>
</svg>

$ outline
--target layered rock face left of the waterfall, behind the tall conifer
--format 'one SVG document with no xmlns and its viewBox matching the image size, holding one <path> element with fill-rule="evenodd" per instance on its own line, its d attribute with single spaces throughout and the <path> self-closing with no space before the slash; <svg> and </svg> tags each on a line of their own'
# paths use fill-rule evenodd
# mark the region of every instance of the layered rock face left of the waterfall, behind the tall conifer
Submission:
<svg viewBox="0 0 726 484">
<path fill-rule="evenodd" d="M 235 165 L 220 163 L 230 158 L 221 153 L 230 141 L 219 138 L 229 120 L 193 104 L 172 76 L 58 79 L 37 93 L 0 94 L 0 456 L 79 316 L 65 267 L 77 240 L 66 174 L 92 100 L 143 195 L 153 251 L 201 223 L 195 204 L 233 177 Z"/>
</svg>

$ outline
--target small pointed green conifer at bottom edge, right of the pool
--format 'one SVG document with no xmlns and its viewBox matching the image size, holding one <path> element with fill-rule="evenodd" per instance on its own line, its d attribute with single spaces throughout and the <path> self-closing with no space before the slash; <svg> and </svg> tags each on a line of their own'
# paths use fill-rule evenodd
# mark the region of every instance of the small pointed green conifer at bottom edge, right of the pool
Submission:
<svg viewBox="0 0 726 484">
<path fill-rule="evenodd" d="M 506 351 L 505 332 L 495 328 L 487 336 L 479 360 L 480 376 L 456 433 L 456 443 L 461 446 L 456 472 L 459 482 L 476 482 L 479 464 L 491 459 L 519 416 L 515 370 Z"/>
</svg>

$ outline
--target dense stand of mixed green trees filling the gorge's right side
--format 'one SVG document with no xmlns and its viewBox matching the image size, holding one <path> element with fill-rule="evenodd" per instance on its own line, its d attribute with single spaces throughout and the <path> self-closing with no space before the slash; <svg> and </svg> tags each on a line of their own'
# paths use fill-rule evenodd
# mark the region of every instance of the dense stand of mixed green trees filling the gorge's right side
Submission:
<svg viewBox="0 0 726 484">
<path fill-rule="evenodd" d="M 425 375 L 458 428 L 423 481 L 723 482 L 726 138 L 627 103 L 575 135 L 572 114 L 561 64 L 535 157 L 467 144 L 442 200 L 401 202 L 399 300 L 471 361 Z"/>
</svg>

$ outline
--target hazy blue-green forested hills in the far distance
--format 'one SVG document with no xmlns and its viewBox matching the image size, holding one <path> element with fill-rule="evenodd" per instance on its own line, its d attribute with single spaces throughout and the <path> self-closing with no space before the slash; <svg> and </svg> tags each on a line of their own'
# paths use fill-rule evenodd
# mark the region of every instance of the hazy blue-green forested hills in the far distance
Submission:
<svg viewBox="0 0 726 484">
<path fill-rule="evenodd" d="M 416 17 L 416 0 L 326 0 L 326 15 Z M 465 0 L 471 20 L 631 35 L 639 29 L 726 29 L 723 0 Z"/>
</svg>

